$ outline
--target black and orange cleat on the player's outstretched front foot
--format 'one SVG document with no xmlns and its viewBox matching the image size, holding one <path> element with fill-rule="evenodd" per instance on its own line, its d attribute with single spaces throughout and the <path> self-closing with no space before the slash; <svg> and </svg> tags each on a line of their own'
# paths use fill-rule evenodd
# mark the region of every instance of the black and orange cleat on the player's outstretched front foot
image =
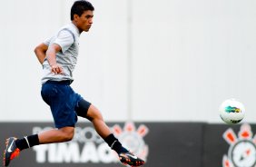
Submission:
<svg viewBox="0 0 256 167">
<path fill-rule="evenodd" d="M 133 155 L 131 152 L 122 152 L 119 154 L 120 162 L 123 164 L 129 164 L 130 166 L 141 166 L 144 164 L 144 161 L 137 156 Z"/>
</svg>

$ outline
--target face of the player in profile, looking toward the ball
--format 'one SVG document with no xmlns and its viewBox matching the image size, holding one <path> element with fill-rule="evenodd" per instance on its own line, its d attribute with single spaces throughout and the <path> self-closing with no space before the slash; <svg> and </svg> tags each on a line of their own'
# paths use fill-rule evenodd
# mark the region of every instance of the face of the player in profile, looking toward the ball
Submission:
<svg viewBox="0 0 256 167">
<path fill-rule="evenodd" d="M 89 29 L 93 25 L 93 17 L 94 11 L 91 10 L 84 11 L 83 15 L 81 16 L 74 15 L 74 21 L 80 33 L 82 33 L 83 31 L 89 31 Z"/>
</svg>

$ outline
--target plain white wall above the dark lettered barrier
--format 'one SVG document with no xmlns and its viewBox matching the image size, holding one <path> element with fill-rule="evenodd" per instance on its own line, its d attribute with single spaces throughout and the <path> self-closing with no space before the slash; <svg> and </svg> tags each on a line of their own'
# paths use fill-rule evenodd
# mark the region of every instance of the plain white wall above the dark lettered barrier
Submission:
<svg viewBox="0 0 256 167">
<path fill-rule="evenodd" d="M 106 121 L 221 123 L 218 107 L 234 97 L 254 122 L 254 1 L 92 3 L 94 26 L 81 35 L 72 85 Z M 69 22 L 72 4 L 0 1 L 1 122 L 52 121 L 33 50 Z"/>
</svg>

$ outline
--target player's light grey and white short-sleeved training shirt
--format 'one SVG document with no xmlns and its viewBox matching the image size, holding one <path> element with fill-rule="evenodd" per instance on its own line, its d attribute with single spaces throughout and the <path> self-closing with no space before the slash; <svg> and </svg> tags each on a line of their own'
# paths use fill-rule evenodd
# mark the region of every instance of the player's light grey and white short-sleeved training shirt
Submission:
<svg viewBox="0 0 256 167">
<path fill-rule="evenodd" d="M 74 80 L 72 73 L 77 62 L 79 35 L 78 28 L 73 23 L 70 23 L 62 27 L 54 36 L 44 41 L 44 44 L 48 46 L 51 44 L 59 44 L 61 46 L 62 50 L 56 54 L 56 62 L 63 67 L 64 74 L 51 73 L 51 67 L 45 58 L 42 84 L 48 80 Z"/>
</svg>

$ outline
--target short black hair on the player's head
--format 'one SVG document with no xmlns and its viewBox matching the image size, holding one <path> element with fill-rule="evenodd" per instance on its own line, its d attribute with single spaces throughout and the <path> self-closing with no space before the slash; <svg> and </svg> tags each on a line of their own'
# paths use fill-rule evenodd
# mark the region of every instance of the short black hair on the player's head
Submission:
<svg viewBox="0 0 256 167">
<path fill-rule="evenodd" d="M 75 14 L 81 16 L 87 10 L 94 11 L 94 5 L 85 0 L 75 1 L 71 7 L 70 19 L 74 20 Z"/>
</svg>

